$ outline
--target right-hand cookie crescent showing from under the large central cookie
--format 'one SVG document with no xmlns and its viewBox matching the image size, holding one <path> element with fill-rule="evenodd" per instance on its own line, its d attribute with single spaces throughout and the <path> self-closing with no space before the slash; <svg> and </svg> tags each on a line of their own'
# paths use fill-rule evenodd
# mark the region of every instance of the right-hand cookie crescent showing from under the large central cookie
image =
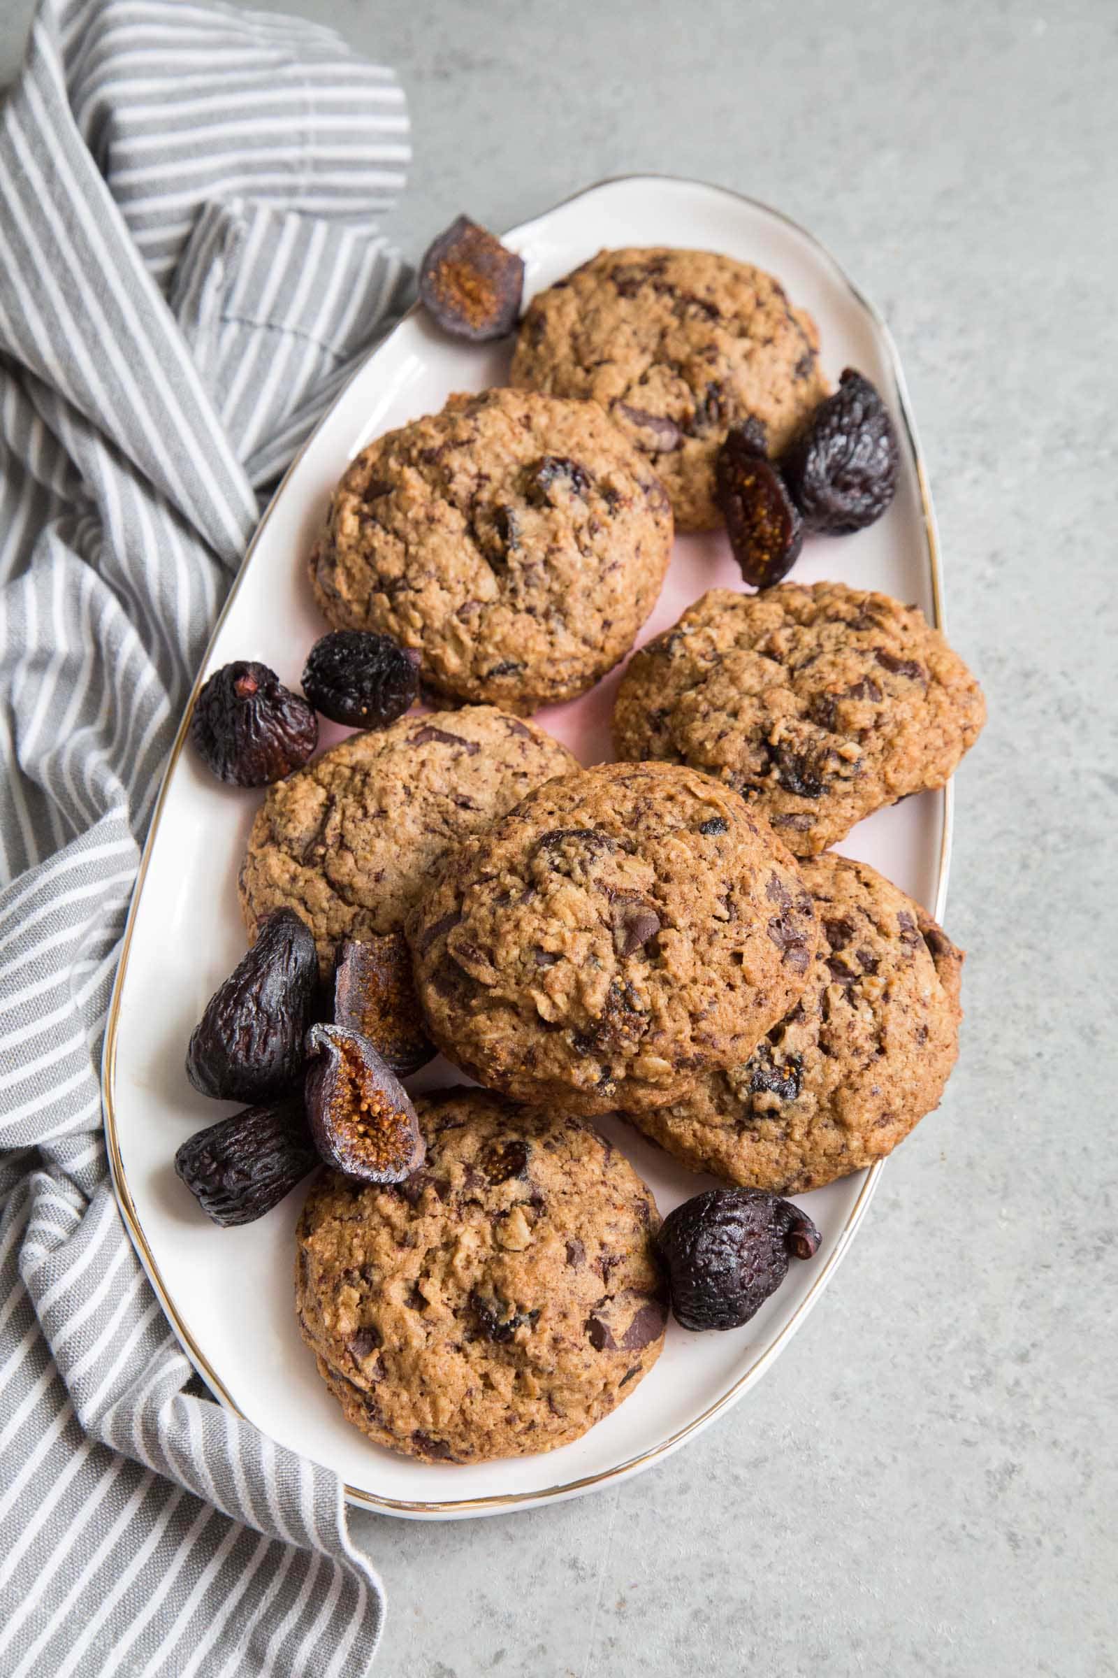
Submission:
<svg viewBox="0 0 1118 1678">
<path fill-rule="evenodd" d="M 865 862 L 803 864 L 823 938 L 803 997 L 743 1066 L 634 1123 L 694 1171 L 776 1195 L 892 1153 L 955 1064 L 962 951 Z"/>
</svg>

